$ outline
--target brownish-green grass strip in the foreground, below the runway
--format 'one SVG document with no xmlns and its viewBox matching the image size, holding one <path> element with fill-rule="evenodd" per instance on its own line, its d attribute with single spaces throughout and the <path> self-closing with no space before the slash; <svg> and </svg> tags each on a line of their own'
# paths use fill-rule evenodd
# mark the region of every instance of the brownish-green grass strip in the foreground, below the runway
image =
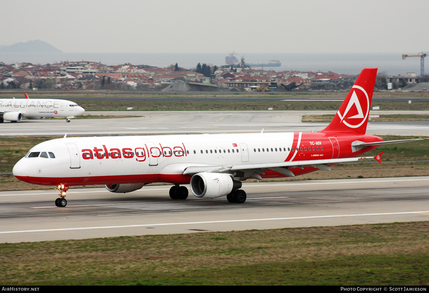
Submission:
<svg viewBox="0 0 429 293">
<path fill-rule="evenodd" d="M 0 283 L 428 285 L 428 231 L 420 221 L 6 243 Z"/>
</svg>

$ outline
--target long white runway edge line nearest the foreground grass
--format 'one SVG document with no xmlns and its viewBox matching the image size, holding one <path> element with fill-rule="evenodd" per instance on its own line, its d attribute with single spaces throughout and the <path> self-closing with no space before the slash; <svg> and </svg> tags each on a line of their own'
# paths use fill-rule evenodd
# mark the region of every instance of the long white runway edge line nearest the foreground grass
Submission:
<svg viewBox="0 0 429 293">
<path fill-rule="evenodd" d="M 130 228 L 130 227 L 148 227 L 148 226 L 169 226 L 169 225 L 190 225 L 190 224 L 213 224 L 213 223 L 232 223 L 232 222 L 278 221 L 278 220 L 314 219 L 314 218 L 329 218 L 329 217 L 382 216 L 382 215 L 388 215 L 388 214 L 420 214 L 420 213 L 429 213 L 429 211 L 403 211 L 403 212 L 396 212 L 396 213 L 377 213 L 377 214 L 336 214 L 336 215 L 330 215 L 330 216 L 282 217 L 282 218 L 245 219 L 245 220 L 223 220 L 223 221 L 202 221 L 202 222 L 183 222 L 183 223 L 160 223 L 160 224 L 121 225 L 121 226 L 20 230 L 20 231 L 2 231 L 2 232 L 0 232 L 0 234 L 48 232 L 48 231 L 69 231 L 69 230 L 88 230 L 88 229 L 107 229 L 107 228 Z"/>
</svg>

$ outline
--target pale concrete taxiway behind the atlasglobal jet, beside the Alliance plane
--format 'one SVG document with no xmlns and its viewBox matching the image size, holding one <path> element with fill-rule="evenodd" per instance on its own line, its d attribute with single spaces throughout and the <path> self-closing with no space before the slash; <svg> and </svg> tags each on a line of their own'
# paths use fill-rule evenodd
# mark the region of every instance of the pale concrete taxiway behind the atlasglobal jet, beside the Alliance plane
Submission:
<svg viewBox="0 0 429 293">
<path fill-rule="evenodd" d="M 120 111 L 85 112 L 88 115 L 141 115 L 139 118 L 23 120 L 0 124 L 1 136 L 63 136 L 184 133 L 258 133 L 319 131 L 327 123 L 302 123 L 302 115 L 336 111 Z M 427 115 L 429 111 L 372 111 L 370 114 Z M 428 136 L 429 121 L 369 122 L 367 134 Z"/>
</svg>

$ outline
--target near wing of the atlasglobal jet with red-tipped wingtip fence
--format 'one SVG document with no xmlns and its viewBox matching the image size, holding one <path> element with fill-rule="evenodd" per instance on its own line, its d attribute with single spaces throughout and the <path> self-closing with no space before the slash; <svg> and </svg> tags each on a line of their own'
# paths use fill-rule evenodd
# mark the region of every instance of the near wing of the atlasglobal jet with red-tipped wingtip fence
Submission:
<svg viewBox="0 0 429 293">
<path fill-rule="evenodd" d="M 383 154 L 383 153 L 381 153 Z M 243 171 L 245 174 L 244 177 L 252 177 L 255 179 L 262 179 L 259 174 L 264 175 L 263 171 L 272 170 L 278 173 L 281 173 L 286 176 L 295 177 L 292 171 L 289 169 L 294 168 L 304 168 L 304 167 L 314 167 L 316 169 L 331 171 L 327 165 L 338 164 L 338 163 L 347 163 L 347 162 L 356 162 L 357 160 L 362 159 L 376 159 L 381 163 L 381 154 L 378 154 L 375 157 L 353 157 L 353 158 L 341 158 L 341 159 L 323 159 L 323 160 L 302 160 L 302 161 L 290 161 L 290 162 L 278 162 L 278 163 L 258 163 L 258 164 L 242 164 L 242 165 L 224 165 L 224 166 L 190 166 L 187 167 L 183 174 L 184 175 L 194 175 L 199 172 L 209 172 L 209 173 L 230 173 L 233 171 Z"/>
</svg>

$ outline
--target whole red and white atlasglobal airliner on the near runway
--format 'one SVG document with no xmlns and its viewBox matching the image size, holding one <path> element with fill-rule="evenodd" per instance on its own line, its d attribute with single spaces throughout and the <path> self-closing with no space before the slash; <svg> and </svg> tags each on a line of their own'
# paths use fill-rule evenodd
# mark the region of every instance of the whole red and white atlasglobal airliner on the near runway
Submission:
<svg viewBox="0 0 429 293">
<path fill-rule="evenodd" d="M 169 196 L 186 199 L 187 187 L 201 199 L 227 196 L 244 203 L 248 178 L 295 177 L 363 157 L 383 141 L 366 135 L 376 68 L 363 69 L 331 123 L 319 132 L 241 133 L 159 136 L 66 137 L 42 142 L 13 167 L 31 184 L 56 186 L 55 201 L 65 207 L 69 186 L 104 184 L 128 193 L 152 182 L 172 183 Z"/>
</svg>

